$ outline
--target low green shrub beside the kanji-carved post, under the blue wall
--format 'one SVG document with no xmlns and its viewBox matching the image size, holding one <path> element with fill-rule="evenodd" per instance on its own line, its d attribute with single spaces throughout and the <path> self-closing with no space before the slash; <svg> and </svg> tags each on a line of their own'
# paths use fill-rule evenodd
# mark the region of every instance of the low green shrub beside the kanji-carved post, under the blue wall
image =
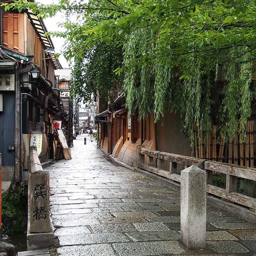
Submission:
<svg viewBox="0 0 256 256">
<path fill-rule="evenodd" d="M 20 199 L 25 195 L 24 185 L 18 187 L 16 192 L 6 192 L 2 196 L 2 214 L 10 215 L 21 209 Z"/>
</svg>

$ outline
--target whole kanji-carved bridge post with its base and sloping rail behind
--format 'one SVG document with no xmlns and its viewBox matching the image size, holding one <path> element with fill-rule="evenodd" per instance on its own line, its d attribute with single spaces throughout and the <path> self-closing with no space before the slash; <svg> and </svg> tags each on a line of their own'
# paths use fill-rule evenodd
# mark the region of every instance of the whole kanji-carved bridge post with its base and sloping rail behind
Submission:
<svg viewBox="0 0 256 256">
<path fill-rule="evenodd" d="M 54 245 L 49 209 L 49 173 L 43 171 L 36 147 L 29 147 L 29 157 L 27 250 L 45 249 Z"/>
</svg>

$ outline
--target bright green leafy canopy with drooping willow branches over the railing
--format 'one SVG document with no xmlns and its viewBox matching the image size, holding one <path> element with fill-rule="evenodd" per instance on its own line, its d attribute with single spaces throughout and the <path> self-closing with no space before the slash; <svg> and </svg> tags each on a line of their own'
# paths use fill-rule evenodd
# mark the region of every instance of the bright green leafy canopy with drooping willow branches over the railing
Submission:
<svg viewBox="0 0 256 256">
<path fill-rule="evenodd" d="M 10 8 L 43 16 L 65 11 L 67 18 L 76 13 L 79 22 L 67 20 L 61 24 L 67 32 L 55 33 L 67 40 L 67 58 L 78 61 L 90 52 L 94 60 L 102 45 L 113 52 L 122 49 L 122 63 L 108 70 L 111 77 L 113 71 L 123 77 L 126 106 L 131 113 L 138 110 L 140 118 L 154 113 L 157 121 L 166 111 L 176 112 L 191 140 L 193 122 L 199 131 L 208 131 L 210 120 L 232 137 L 240 122 L 244 135 L 253 101 L 255 1 L 60 0 L 48 6 L 15 1 Z M 216 93 L 219 67 L 225 70 L 221 99 Z M 98 74 L 92 74 L 96 79 Z"/>
</svg>

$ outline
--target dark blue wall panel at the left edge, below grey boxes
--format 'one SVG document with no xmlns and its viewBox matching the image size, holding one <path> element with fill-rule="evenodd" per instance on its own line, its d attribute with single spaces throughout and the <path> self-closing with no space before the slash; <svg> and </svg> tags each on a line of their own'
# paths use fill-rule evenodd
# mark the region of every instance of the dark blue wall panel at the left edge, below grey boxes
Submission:
<svg viewBox="0 0 256 256">
<path fill-rule="evenodd" d="M 3 94 L 3 112 L 0 112 L 2 166 L 15 166 L 15 156 L 8 151 L 9 145 L 15 145 L 15 92 L 0 91 L 0 93 Z"/>
</svg>

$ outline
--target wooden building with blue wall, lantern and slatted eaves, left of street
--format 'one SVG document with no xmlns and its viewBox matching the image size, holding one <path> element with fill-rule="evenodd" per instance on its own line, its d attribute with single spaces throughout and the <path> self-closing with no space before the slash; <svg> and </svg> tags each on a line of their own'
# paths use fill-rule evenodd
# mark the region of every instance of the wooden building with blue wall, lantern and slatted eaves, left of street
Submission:
<svg viewBox="0 0 256 256">
<path fill-rule="evenodd" d="M 1 1 L 2 3 L 10 1 Z M 29 146 L 41 162 L 55 155 L 54 120 L 68 120 L 61 102 L 54 46 L 41 18 L 0 9 L 0 152 L 3 181 L 26 181 Z M 35 75 L 35 77 L 34 77 Z"/>
</svg>

